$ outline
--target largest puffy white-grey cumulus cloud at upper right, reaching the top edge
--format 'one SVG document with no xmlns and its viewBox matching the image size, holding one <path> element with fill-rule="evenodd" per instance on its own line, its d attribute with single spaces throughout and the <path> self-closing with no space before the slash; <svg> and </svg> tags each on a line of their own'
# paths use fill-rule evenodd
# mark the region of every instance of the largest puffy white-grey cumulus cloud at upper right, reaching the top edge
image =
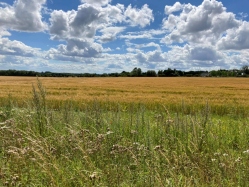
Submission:
<svg viewBox="0 0 249 187">
<path fill-rule="evenodd" d="M 166 6 L 166 9 L 174 10 L 175 6 Z M 181 7 L 179 15 L 170 14 L 163 20 L 163 28 L 169 30 L 169 34 L 162 42 L 215 44 L 229 29 L 240 24 L 235 15 L 227 12 L 223 4 L 216 0 L 204 0 L 200 6 L 183 4 Z"/>
</svg>

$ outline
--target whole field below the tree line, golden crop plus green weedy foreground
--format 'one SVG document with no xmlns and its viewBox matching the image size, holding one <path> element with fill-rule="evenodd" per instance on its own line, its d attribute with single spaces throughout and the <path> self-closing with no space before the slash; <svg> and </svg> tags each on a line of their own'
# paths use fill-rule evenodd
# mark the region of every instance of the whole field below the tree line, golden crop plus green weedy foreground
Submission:
<svg viewBox="0 0 249 187">
<path fill-rule="evenodd" d="M 0 186 L 246 186 L 249 79 L 0 77 Z"/>
</svg>

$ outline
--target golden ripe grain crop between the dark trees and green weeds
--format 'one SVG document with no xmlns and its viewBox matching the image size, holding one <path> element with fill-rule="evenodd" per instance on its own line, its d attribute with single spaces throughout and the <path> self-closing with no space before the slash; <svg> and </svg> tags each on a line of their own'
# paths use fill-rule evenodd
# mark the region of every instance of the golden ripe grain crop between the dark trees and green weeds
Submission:
<svg viewBox="0 0 249 187">
<path fill-rule="evenodd" d="M 247 78 L 39 78 L 49 101 L 249 106 Z M 0 77 L 1 100 L 32 97 L 36 77 Z"/>
</svg>

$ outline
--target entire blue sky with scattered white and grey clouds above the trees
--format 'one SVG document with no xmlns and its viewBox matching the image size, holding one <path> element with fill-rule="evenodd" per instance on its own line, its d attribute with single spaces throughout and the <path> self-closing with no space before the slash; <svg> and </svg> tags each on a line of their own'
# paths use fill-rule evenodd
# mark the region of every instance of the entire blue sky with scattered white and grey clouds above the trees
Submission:
<svg viewBox="0 0 249 187">
<path fill-rule="evenodd" d="M 114 73 L 249 64 L 248 0 L 2 0 L 0 70 Z"/>
</svg>

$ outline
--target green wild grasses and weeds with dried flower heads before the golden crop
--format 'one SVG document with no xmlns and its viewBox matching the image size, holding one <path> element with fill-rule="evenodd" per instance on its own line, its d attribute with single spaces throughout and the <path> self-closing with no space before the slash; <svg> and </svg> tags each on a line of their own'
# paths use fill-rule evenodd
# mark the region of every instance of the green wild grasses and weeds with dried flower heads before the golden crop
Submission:
<svg viewBox="0 0 249 187">
<path fill-rule="evenodd" d="M 54 108 L 39 80 L 32 93 L 21 106 L 15 97 L 1 100 L 0 186 L 249 183 L 244 106 L 237 115 L 223 103 L 229 112 L 222 116 L 208 102 L 172 110 L 98 99 L 79 107 L 68 99 Z"/>
</svg>

